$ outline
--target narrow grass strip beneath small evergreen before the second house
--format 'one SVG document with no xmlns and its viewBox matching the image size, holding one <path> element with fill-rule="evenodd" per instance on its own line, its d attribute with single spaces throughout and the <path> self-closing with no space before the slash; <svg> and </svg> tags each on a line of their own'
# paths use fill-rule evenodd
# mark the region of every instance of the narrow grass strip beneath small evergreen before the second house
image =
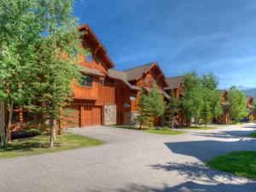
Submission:
<svg viewBox="0 0 256 192">
<path fill-rule="evenodd" d="M 154 129 L 154 128 L 139 129 L 137 126 L 134 126 L 134 125 L 112 125 L 111 127 L 123 128 L 123 129 L 128 129 L 128 130 L 145 131 L 145 132 L 149 132 L 149 133 L 162 134 L 162 135 L 179 135 L 179 134 L 184 133 L 184 131 L 160 130 L 160 129 Z"/>
</svg>

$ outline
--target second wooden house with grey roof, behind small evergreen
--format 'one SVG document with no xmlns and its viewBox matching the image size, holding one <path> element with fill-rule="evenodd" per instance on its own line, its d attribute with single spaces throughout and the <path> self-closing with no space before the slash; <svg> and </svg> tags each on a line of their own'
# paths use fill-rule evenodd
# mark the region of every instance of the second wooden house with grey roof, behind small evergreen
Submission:
<svg viewBox="0 0 256 192">
<path fill-rule="evenodd" d="M 119 80 L 116 84 L 117 123 L 118 125 L 137 124 L 139 94 L 150 91 L 157 84 L 163 98 L 169 99 L 164 87 L 167 86 L 166 78 L 157 62 L 134 67 L 125 71 L 108 70 L 109 76 Z M 160 119 L 155 120 L 155 125 L 160 125 Z"/>
</svg>

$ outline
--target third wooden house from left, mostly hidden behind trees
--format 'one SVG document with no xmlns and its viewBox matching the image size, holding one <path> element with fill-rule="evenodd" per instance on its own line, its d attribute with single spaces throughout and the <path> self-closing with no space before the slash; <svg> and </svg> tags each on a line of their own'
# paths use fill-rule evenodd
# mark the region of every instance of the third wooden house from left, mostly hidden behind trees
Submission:
<svg viewBox="0 0 256 192">
<path fill-rule="evenodd" d="M 166 79 L 168 86 L 165 87 L 165 90 L 168 94 L 171 94 L 171 91 L 173 91 L 174 95 L 177 97 L 177 99 L 180 99 L 183 96 L 183 76 L 177 76 L 172 78 Z M 177 113 L 177 126 L 184 125 L 184 117 L 183 117 L 183 111 L 180 110 Z M 166 114 L 166 121 L 169 121 L 168 114 Z"/>
</svg>

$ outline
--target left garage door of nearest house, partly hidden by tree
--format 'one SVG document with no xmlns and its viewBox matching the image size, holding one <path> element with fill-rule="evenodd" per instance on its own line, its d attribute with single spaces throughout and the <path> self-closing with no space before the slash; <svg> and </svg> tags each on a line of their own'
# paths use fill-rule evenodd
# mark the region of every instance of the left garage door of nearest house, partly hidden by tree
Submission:
<svg viewBox="0 0 256 192">
<path fill-rule="evenodd" d="M 69 108 L 66 109 L 65 120 L 64 120 L 64 127 L 71 128 L 71 127 L 79 127 L 79 113 L 80 113 L 80 106 L 79 105 L 71 105 Z"/>
</svg>

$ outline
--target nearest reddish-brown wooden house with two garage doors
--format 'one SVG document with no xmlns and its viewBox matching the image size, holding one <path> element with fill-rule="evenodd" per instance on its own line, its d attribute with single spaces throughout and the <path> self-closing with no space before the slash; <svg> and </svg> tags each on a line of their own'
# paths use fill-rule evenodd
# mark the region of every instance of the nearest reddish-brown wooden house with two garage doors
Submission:
<svg viewBox="0 0 256 192">
<path fill-rule="evenodd" d="M 84 77 L 82 82 L 73 85 L 73 102 L 69 108 L 79 113 L 69 120 L 77 123 L 65 127 L 115 125 L 115 80 L 108 77 L 108 69 L 114 67 L 113 61 L 90 26 L 80 26 L 79 30 L 85 32 L 82 46 L 90 50 L 90 55 L 81 56 L 79 65 Z"/>
</svg>

